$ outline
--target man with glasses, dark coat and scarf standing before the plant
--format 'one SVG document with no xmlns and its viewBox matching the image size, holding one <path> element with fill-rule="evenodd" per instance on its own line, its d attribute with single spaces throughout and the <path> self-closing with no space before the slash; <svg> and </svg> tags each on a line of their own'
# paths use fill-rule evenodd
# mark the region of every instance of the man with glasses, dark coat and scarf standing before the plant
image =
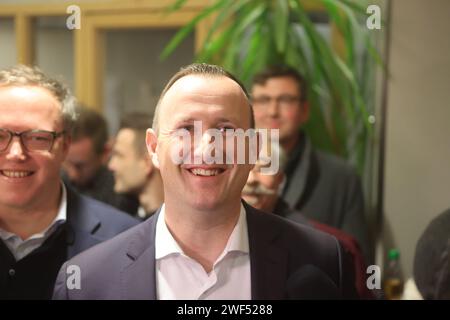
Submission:
<svg viewBox="0 0 450 320">
<path fill-rule="evenodd" d="M 288 154 L 282 198 L 305 216 L 353 235 L 370 263 L 358 175 L 342 159 L 315 150 L 301 129 L 310 113 L 305 79 L 293 68 L 272 66 L 255 75 L 251 93 L 256 126 L 279 129 Z"/>
</svg>

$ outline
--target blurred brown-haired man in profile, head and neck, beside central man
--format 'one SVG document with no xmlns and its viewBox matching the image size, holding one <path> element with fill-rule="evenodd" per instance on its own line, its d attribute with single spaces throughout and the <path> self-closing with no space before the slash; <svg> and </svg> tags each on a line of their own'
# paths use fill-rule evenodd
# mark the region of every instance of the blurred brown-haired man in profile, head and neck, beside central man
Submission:
<svg viewBox="0 0 450 320">
<path fill-rule="evenodd" d="M 122 118 L 108 165 L 114 174 L 114 191 L 139 199 L 137 215 L 141 219 L 153 215 L 164 201 L 161 174 L 152 164 L 145 145 L 152 119 L 142 112 Z"/>
</svg>

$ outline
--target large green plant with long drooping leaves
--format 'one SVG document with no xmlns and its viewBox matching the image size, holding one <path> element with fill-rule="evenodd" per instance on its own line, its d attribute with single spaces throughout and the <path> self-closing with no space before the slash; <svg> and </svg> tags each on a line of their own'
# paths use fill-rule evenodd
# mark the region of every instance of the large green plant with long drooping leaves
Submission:
<svg viewBox="0 0 450 320">
<path fill-rule="evenodd" d="M 349 159 L 360 173 L 373 137 L 374 69 L 381 60 L 365 28 L 364 1 L 312 0 L 342 37 L 338 53 L 301 0 L 214 0 L 166 46 L 170 55 L 195 25 L 214 17 L 198 62 L 220 64 L 249 84 L 270 64 L 288 64 L 307 79 L 311 119 L 305 130 L 319 148 Z M 176 1 L 170 11 L 186 0 Z M 359 49 L 358 49 L 359 48 Z M 362 49 L 361 49 L 362 48 Z"/>
</svg>

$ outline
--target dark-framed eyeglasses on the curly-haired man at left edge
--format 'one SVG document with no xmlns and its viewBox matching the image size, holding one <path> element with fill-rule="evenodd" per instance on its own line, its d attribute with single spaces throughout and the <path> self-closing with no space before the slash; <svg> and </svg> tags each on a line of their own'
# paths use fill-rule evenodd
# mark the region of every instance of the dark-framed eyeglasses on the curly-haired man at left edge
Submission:
<svg viewBox="0 0 450 320">
<path fill-rule="evenodd" d="M 8 129 L 0 129 L 0 152 L 8 149 L 13 137 L 19 137 L 22 146 L 27 151 L 50 151 L 55 139 L 64 133 L 64 130 L 60 132 L 46 130 L 13 132 Z"/>
</svg>

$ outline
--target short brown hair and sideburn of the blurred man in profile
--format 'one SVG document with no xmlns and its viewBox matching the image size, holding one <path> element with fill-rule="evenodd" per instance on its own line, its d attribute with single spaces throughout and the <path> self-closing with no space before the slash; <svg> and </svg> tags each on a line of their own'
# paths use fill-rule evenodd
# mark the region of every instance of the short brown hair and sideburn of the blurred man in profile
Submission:
<svg viewBox="0 0 450 320">
<path fill-rule="evenodd" d="M 145 112 L 130 112 L 120 120 L 120 129 L 130 129 L 134 135 L 134 150 L 137 155 L 143 156 L 147 152 L 145 135 L 147 129 L 152 127 L 153 116 Z"/>
</svg>

